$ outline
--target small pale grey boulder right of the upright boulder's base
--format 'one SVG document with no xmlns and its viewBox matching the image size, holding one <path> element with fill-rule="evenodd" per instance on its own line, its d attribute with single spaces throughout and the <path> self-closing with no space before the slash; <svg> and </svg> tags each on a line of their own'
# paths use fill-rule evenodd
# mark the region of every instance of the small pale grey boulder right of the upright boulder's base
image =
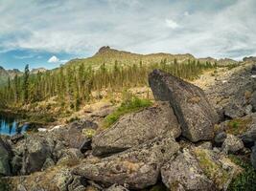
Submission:
<svg viewBox="0 0 256 191">
<path fill-rule="evenodd" d="M 244 143 L 241 138 L 228 134 L 225 138 L 221 150 L 228 154 L 236 154 L 244 148 Z"/>
</svg>

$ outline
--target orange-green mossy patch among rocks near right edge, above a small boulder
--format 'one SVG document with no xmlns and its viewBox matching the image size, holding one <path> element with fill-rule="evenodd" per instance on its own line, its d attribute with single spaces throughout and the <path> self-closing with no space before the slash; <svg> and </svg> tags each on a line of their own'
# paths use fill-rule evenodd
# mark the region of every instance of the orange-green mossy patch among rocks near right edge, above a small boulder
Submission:
<svg viewBox="0 0 256 191">
<path fill-rule="evenodd" d="M 251 121 L 252 121 L 251 117 L 232 119 L 227 123 L 226 132 L 228 134 L 233 134 L 235 136 L 244 134 L 248 128 L 248 124 L 250 124 Z"/>
</svg>

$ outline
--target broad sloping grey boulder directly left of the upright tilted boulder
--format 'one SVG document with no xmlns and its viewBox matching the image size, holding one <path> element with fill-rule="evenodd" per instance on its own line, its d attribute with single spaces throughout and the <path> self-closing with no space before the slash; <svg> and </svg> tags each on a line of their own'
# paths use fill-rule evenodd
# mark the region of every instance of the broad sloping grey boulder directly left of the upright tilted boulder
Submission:
<svg viewBox="0 0 256 191">
<path fill-rule="evenodd" d="M 111 128 L 96 135 L 92 139 L 93 155 L 124 151 L 165 134 L 177 138 L 181 130 L 169 102 L 159 102 L 141 112 L 121 117 Z"/>
</svg>

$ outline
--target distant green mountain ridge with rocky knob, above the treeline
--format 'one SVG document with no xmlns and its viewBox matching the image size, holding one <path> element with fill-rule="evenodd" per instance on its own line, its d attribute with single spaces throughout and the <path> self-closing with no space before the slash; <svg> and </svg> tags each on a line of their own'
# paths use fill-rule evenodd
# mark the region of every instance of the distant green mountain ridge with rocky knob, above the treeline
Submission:
<svg viewBox="0 0 256 191">
<path fill-rule="evenodd" d="M 112 66 L 115 63 L 119 65 L 133 65 L 138 63 L 143 64 L 152 64 L 160 63 L 161 61 L 166 61 L 167 63 L 174 63 L 176 60 L 177 63 L 184 63 L 188 60 L 198 60 L 200 62 L 209 62 L 211 64 L 219 65 L 228 65 L 238 63 L 232 59 L 215 59 L 212 57 L 206 58 L 196 58 L 190 53 L 184 54 L 172 54 L 172 53 L 150 53 L 150 54 L 139 54 L 139 53 L 130 53 L 125 51 L 118 51 L 112 49 L 108 46 L 102 47 L 97 53 L 88 58 L 77 58 L 68 61 L 64 66 L 78 66 L 80 64 L 85 64 L 87 66 L 92 66 L 97 68 L 100 65 L 104 64 L 106 66 Z"/>
</svg>

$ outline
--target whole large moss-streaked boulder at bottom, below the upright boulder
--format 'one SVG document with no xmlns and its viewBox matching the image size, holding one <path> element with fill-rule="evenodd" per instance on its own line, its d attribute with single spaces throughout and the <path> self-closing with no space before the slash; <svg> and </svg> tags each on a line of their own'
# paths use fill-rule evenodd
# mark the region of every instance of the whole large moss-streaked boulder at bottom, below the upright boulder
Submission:
<svg viewBox="0 0 256 191">
<path fill-rule="evenodd" d="M 231 160 L 198 147 L 184 149 L 161 169 L 162 180 L 171 190 L 226 190 L 241 172 L 242 168 Z"/>
</svg>

